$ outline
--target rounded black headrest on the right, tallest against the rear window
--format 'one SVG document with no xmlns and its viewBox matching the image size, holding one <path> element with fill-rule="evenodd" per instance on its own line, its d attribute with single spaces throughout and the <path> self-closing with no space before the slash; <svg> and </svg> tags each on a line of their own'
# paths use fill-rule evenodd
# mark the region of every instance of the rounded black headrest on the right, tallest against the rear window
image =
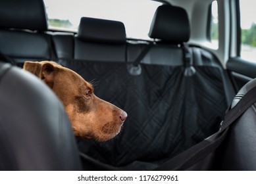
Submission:
<svg viewBox="0 0 256 184">
<path fill-rule="evenodd" d="M 180 7 L 162 5 L 157 8 L 149 37 L 172 43 L 182 43 L 190 39 L 190 23 L 187 12 Z"/>
</svg>

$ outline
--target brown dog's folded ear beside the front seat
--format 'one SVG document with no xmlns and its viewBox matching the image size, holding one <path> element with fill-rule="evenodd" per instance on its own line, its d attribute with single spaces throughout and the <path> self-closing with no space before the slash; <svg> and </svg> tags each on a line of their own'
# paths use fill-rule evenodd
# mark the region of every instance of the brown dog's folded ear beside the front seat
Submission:
<svg viewBox="0 0 256 184">
<path fill-rule="evenodd" d="M 36 62 L 26 61 L 23 66 L 24 70 L 28 70 L 42 81 L 44 81 L 49 87 L 53 87 L 54 70 L 55 67 L 49 62 Z"/>
</svg>

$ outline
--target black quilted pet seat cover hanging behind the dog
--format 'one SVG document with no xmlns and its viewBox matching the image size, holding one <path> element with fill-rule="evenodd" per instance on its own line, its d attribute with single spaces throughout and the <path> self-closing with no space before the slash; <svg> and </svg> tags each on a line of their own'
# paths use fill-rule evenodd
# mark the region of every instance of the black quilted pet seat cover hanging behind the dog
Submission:
<svg viewBox="0 0 256 184">
<path fill-rule="evenodd" d="M 95 94 L 124 109 L 128 119 L 105 143 L 80 141 L 80 151 L 120 170 L 152 170 L 218 130 L 227 108 L 221 70 L 141 64 L 140 76 L 126 63 L 60 62 L 95 83 Z"/>
</svg>

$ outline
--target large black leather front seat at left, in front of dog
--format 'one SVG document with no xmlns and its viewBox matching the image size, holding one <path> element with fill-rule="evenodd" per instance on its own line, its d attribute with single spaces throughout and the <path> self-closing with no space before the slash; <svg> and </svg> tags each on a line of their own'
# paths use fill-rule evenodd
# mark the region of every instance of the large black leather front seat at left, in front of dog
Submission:
<svg viewBox="0 0 256 184">
<path fill-rule="evenodd" d="M 0 170 L 80 170 L 70 122 L 34 75 L 0 63 Z"/>
</svg>

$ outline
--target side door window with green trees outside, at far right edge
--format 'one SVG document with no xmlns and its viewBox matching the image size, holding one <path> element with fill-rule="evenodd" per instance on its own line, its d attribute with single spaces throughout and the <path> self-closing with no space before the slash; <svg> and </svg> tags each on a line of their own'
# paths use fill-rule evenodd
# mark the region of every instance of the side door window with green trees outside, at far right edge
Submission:
<svg viewBox="0 0 256 184">
<path fill-rule="evenodd" d="M 256 60 L 256 1 L 240 1 L 241 57 Z"/>
</svg>

